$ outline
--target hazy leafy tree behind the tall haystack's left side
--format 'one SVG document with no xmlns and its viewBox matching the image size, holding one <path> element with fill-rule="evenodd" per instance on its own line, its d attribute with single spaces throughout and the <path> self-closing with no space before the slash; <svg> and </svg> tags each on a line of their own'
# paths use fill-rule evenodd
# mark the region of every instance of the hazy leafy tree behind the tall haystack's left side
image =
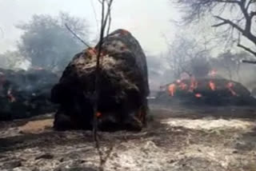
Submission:
<svg viewBox="0 0 256 171">
<path fill-rule="evenodd" d="M 17 26 L 24 31 L 18 50 L 30 60 L 31 66 L 63 70 L 74 54 L 84 48 L 82 42 L 66 29 L 65 24 L 88 41 L 86 21 L 66 13 L 60 13 L 56 18 L 34 15 L 30 22 Z"/>
</svg>

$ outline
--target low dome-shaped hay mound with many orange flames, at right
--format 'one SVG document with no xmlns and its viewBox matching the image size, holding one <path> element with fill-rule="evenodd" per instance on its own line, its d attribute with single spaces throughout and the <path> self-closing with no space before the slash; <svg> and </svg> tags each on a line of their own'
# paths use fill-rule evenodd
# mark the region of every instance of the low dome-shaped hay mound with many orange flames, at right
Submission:
<svg viewBox="0 0 256 171">
<path fill-rule="evenodd" d="M 158 101 L 186 105 L 255 105 L 250 91 L 239 82 L 224 78 L 190 78 L 162 87 Z"/>
</svg>

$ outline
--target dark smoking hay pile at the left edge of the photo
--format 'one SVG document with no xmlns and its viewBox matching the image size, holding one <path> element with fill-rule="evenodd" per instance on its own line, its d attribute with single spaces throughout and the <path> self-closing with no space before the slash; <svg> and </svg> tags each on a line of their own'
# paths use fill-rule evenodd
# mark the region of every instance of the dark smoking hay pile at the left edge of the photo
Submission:
<svg viewBox="0 0 256 171">
<path fill-rule="evenodd" d="M 46 70 L 0 69 L 0 120 L 53 112 L 50 89 L 58 81 Z"/>
</svg>

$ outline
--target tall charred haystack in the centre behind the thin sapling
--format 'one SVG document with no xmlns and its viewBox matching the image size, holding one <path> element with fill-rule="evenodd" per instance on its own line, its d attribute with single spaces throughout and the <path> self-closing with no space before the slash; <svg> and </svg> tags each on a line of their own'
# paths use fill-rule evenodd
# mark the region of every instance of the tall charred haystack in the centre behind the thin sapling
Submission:
<svg viewBox="0 0 256 171">
<path fill-rule="evenodd" d="M 60 104 L 55 129 L 92 129 L 97 50 L 76 54 L 52 89 L 52 101 Z M 149 85 L 138 41 L 126 30 L 114 31 L 103 40 L 100 61 L 99 129 L 142 129 Z"/>
</svg>

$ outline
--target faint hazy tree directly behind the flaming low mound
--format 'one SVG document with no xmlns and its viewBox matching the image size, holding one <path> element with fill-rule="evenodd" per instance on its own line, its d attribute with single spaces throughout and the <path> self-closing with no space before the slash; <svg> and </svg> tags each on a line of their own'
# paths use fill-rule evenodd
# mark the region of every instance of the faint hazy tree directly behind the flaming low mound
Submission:
<svg viewBox="0 0 256 171">
<path fill-rule="evenodd" d="M 174 78 L 180 78 L 182 73 L 194 77 L 205 77 L 209 73 L 210 52 L 196 40 L 177 36 L 170 44 L 169 52 L 167 61 Z"/>
</svg>

